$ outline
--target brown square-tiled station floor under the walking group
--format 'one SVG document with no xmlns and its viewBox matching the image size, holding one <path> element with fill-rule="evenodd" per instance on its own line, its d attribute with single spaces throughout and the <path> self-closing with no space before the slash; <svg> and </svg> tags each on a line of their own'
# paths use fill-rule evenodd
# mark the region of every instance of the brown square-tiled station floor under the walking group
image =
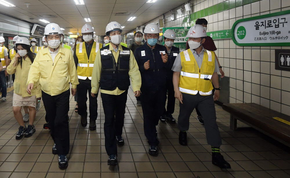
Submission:
<svg viewBox="0 0 290 178">
<path fill-rule="evenodd" d="M 189 145 L 178 144 L 177 124 L 159 123 L 157 131 L 160 141 L 158 157 L 148 155 L 148 143 L 144 135 L 142 108 L 136 106 L 131 88 L 125 114 L 123 138 L 125 145 L 118 147 L 119 164 L 107 165 L 104 147 L 104 111 L 99 103 L 97 130 L 90 131 L 79 123 L 79 115 L 73 110 L 75 101 L 71 97 L 69 111 L 70 154 L 66 170 L 58 168 L 58 157 L 52 155 L 53 141 L 49 130 L 42 128 L 45 123 L 44 107 L 37 112 L 35 134 L 30 138 L 15 140 L 18 123 L 12 112 L 12 95 L 0 103 L 0 178 L 6 177 L 196 177 L 200 178 L 287 178 L 290 177 L 290 153 L 283 147 L 253 129 L 231 131 L 229 113 L 216 106 L 217 122 L 223 144 L 222 155 L 232 169 L 221 170 L 211 164 L 211 147 L 207 145 L 204 126 L 195 119 L 194 111 L 190 119 L 187 137 Z M 175 105 L 173 116 L 178 117 L 179 106 Z M 239 126 L 244 126 L 238 122 Z M 286 152 L 285 150 L 288 150 Z"/>
</svg>

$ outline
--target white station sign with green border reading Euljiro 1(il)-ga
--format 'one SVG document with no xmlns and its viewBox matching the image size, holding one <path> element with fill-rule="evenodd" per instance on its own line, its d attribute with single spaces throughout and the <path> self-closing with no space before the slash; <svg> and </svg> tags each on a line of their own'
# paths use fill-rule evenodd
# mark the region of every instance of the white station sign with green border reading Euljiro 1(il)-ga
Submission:
<svg viewBox="0 0 290 178">
<path fill-rule="evenodd" d="M 290 46 L 290 10 L 237 20 L 231 33 L 238 46 Z"/>
</svg>

